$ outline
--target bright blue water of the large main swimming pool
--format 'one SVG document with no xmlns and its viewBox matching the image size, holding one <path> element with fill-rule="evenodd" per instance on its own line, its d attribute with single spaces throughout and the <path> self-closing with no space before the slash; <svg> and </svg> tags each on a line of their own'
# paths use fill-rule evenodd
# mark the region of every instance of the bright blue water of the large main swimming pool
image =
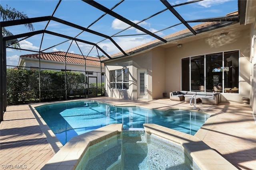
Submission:
<svg viewBox="0 0 256 170">
<path fill-rule="evenodd" d="M 115 107 L 93 101 L 46 104 L 35 108 L 63 145 L 74 136 L 113 123 L 123 123 L 124 129 L 143 128 L 144 123 L 155 123 L 194 135 L 209 117 L 194 111 Z"/>
</svg>

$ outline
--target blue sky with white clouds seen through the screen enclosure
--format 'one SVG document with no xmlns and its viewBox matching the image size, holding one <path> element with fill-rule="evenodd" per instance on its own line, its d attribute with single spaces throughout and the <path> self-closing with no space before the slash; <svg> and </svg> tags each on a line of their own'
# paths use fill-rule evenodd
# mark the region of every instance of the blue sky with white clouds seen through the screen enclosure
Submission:
<svg viewBox="0 0 256 170">
<path fill-rule="evenodd" d="M 96 2 L 106 6 L 107 8 L 112 8 L 119 0 L 97 0 Z M 172 5 L 180 4 L 187 2 L 187 0 L 168 0 Z M 15 8 L 20 12 L 27 14 L 29 18 L 41 17 L 41 16 L 51 16 L 54 8 L 58 4 L 58 0 L 1 0 L 0 4 L 3 7 L 8 5 L 8 8 Z M 166 7 L 159 0 L 125 0 L 113 11 L 117 14 L 120 14 L 127 18 L 128 20 L 137 23 L 156 12 L 164 10 Z M 196 2 L 193 4 L 187 4 L 184 6 L 179 6 L 174 8 L 179 14 L 184 18 L 184 20 L 196 20 L 202 18 L 213 18 L 218 16 L 225 16 L 230 12 L 238 10 L 238 1 L 237 0 L 204 0 Z M 54 17 L 66 20 L 77 25 L 88 27 L 93 21 L 102 16 L 104 12 L 82 2 L 80 0 L 62 0 L 60 6 L 56 10 Z M 42 30 L 46 27 L 46 21 L 40 23 L 33 23 L 35 30 Z M 173 14 L 166 10 L 161 14 L 150 18 L 149 20 L 141 22 L 139 25 L 148 31 L 156 32 L 158 30 L 164 29 L 180 21 L 173 16 Z M 196 25 L 198 23 L 193 23 Z M 190 24 L 193 26 L 192 24 Z M 119 31 L 127 28 L 129 25 L 126 23 L 115 19 L 112 16 L 106 15 L 99 21 L 97 21 L 89 29 L 98 31 L 108 36 L 115 35 Z M 176 31 L 185 29 L 184 25 L 178 25 L 170 29 L 160 31 L 156 33 L 160 37 L 164 37 Z M 29 30 L 24 27 L 24 25 L 16 25 L 12 27 L 6 27 L 14 35 L 20 33 L 26 33 Z M 81 31 L 74 29 L 72 27 L 63 25 L 61 23 L 50 21 L 48 31 L 54 31 L 64 35 L 74 37 L 78 35 Z M 142 32 L 138 29 L 130 28 L 117 35 L 118 37 L 113 37 L 114 41 L 120 45 L 124 50 L 131 49 L 133 47 L 142 45 L 144 43 L 153 41 L 155 38 L 149 35 L 136 35 L 136 36 L 124 36 L 130 34 L 141 34 Z M 85 41 L 90 41 L 93 43 L 98 43 L 98 45 L 108 53 L 108 55 L 113 55 L 119 53 L 120 51 L 111 43 L 108 39 L 104 40 L 103 37 L 97 35 L 92 35 L 90 33 L 83 32 L 77 37 L 78 39 L 83 39 Z M 53 51 L 67 51 L 70 53 L 88 55 L 96 57 L 97 55 L 104 55 L 99 51 L 96 51 L 96 48 L 92 49 L 92 45 L 85 43 L 79 43 L 77 47 L 76 43 L 71 44 L 71 40 L 66 43 L 62 43 L 67 39 L 56 37 L 53 35 L 45 34 L 42 39 L 42 34 L 34 35 L 28 39 L 20 41 L 20 46 L 23 49 L 38 51 L 40 49 L 40 44 L 42 41 L 41 50 L 44 52 L 53 52 Z M 104 41 L 102 41 L 104 40 Z M 56 47 L 52 47 L 58 43 L 62 43 Z M 70 46 L 71 44 L 71 46 Z M 70 48 L 69 48 L 70 46 Z M 48 49 L 49 47 L 52 47 Z M 90 52 L 90 53 L 89 53 Z M 7 49 L 7 65 L 18 64 L 19 56 L 25 54 L 32 54 L 34 52 L 29 51 L 20 51 L 14 49 Z"/>
</svg>

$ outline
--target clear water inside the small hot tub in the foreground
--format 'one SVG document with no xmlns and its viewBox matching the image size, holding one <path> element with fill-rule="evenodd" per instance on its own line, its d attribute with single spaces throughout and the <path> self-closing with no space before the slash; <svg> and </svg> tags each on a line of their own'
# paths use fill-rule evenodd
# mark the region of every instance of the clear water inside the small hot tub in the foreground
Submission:
<svg viewBox="0 0 256 170">
<path fill-rule="evenodd" d="M 170 145 L 144 131 L 122 131 L 90 146 L 76 170 L 190 170 L 191 160 L 181 148 Z"/>
</svg>

